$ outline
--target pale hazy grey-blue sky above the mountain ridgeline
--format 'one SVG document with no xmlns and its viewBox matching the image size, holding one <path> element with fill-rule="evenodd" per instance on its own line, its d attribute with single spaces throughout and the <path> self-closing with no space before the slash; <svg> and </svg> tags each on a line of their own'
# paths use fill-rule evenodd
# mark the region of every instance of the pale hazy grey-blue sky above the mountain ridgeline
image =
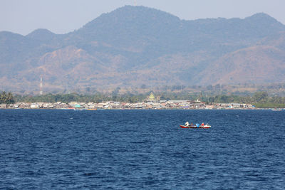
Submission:
<svg viewBox="0 0 285 190">
<path fill-rule="evenodd" d="M 125 5 L 152 7 L 184 20 L 244 19 L 262 12 L 285 24 L 285 0 L 0 0 L 0 31 L 68 33 Z"/>
</svg>

